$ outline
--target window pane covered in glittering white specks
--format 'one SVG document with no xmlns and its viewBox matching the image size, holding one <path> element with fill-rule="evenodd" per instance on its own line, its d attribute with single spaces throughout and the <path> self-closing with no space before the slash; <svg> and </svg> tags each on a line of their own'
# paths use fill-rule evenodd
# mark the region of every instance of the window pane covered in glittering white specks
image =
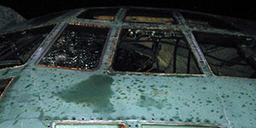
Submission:
<svg viewBox="0 0 256 128">
<path fill-rule="evenodd" d="M 50 47 L 40 66 L 93 70 L 108 38 L 108 28 L 68 25 Z"/>
</svg>

